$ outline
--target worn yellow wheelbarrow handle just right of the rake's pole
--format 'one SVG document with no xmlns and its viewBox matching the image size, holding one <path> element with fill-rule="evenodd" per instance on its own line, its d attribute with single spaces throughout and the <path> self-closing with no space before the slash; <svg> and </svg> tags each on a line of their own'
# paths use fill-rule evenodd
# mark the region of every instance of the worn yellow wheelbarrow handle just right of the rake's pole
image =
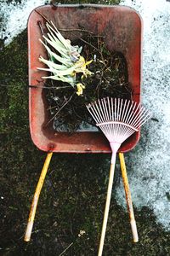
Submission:
<svg viewBox="0 0 170 256">
<path fill-rule="evenodd" d="M 127 200 L 127 211 L 129 214 L 131 229 L 133 233 L 133 242 L 138 242 L 139 236 L 138 236 L 138 231 L 136 227 L 136 221 L 134 218 L 133 202 L 131 199 L 131 193 L 130 193 L 128 179 L 127 179 L 127 169 L 125 165 L 124 155 L 122 153 L 119 153 L 119 159 L 121 162 L 122 180 L 123 180 L 123 185 L 124 185 L 126 200 Z"/>
</svg>

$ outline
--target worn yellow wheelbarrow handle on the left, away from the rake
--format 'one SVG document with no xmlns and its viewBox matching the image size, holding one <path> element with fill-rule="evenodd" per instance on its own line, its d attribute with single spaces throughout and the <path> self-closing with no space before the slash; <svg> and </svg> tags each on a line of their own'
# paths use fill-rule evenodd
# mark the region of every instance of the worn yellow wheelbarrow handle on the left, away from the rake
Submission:
<svg viewBox="0 0 170 256">
<path fill-rule="evenodd" d="M 29 218 L 28 218 L 28 224 L 27 224 L 27 227 L 26 227 L 26 235 L 25 235 L 24 241 L 30 241 L 30 239 L 31 239 L 31 230 L 33 228 L 34 218 L 35 218 L 35 215 L 36 215 L 37 202 L 38 202 L 38 199 L 39 199 L 40 192 L 42 190 L 42 185 L 43 185 L 44 179 L 45 179 L 46 174 L 48 172 L 48 166 L 49 166 L 52 155 L 53 155 L 52 152 L 48 153 L 48 155 L 46 157 L 46 160 L 44 162 L 44 165 L 42 167 L 42 173 L 39 177 L 39 180 L 38 180 L 38 183 L 37 183 L 37 188 L 36 188 L 32 203 L 31 203 L 31 210 L 30 210 L 30 214 L 29 214 Z"/>
</svg>

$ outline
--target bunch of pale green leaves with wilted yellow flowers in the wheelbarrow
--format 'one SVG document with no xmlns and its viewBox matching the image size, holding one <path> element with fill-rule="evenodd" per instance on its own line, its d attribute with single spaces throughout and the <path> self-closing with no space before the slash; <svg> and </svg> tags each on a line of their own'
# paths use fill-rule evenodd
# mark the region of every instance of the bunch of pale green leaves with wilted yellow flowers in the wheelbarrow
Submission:
<svg viewBox="0 0 170 256">
<path fill-rule="evenodd" d="M 47 36 L 42 35 L 45 42 L 41 39 L 40 41 L 47 49 L 49 59 L 46 60 L 40 56 L 39 61 L 46 64 L 48 68 L 37 67 L 37 69 L 48 71 L 51 75 L 42 79 L 54 79 L 71 84 L 77 90 L 77 95 L 82 95 L 85 89 L 82 79 L 93 74 L 87 68 L 92 61 L 85 61 L 81 55 L 82 47 L 71 45 L 71 41 L 61 35 L 52 21 L 48 21 L 46 26 Z M 77 73 L 82 73 L 81 81 L 77 80 Z"/>
</svg>

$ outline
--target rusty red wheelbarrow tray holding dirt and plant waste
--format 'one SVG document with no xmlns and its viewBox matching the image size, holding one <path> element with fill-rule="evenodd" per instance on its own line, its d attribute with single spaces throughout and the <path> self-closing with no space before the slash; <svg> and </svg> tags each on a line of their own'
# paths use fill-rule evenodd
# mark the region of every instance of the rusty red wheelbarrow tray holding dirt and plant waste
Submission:
<svg viewBox="0 0 170 256">
<path fill-rule="evenodd" d="M 42 32 L 38 22 L 44 26 L 45 20 L 53 20 L 58 29 L 84 29 L 102 35 L 105 44 L 111 51 L 121 52 L 127 61 L 128 81 L 133 89 L 133 101 L 140 101 L 141 80 L 141 20 L 134 9 L 124 6 L 104 6 L 94 4 L 74 4 L 42 6 L 31 12 L 28 20 L 29 49 L 29 84 L 30 87 L 30 129 L 31 139 L 37 148 L 43 151 L 65 153 L 111 153 L 111 148 L 105 137 L 99 131 L 77 131 L 70 134 L 66 131 L 54 131 L 53 125 L 47 124 L 48 102 L 42 86 L 43 71 L 37 67 L 43 65 L 38 61 L 39 55 L 47 55 L 39 41 Z M 65 36 L 65 32 L 64 32 Z M 74 36 L 71 34 L 71 40 Z M 85 107 L 84 107 L 85 108 Z M 125 143 L 119 152 L 132 149 L 139 141 L 136 132 Z"/>
</svg>

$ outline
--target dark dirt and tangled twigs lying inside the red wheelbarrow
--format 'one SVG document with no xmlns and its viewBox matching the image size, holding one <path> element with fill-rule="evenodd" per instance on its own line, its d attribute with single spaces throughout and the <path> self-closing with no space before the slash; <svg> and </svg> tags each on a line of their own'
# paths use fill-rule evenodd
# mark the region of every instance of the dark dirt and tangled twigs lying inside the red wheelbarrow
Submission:
<svg viewBox="0 0 170 256">
<path fill-rule="evenodd" d="M 82 32 L 82 38 L 72 44 L 82 45 L 81 55 L 86 61 L 93 60 L 88 65 L 93 74 L 82 79 L 85 89 L 81 96 L 77 96 L 70 84 L 54 80 L 51 84 L 47 82 L 50 89 L 47 90 L 48 111 L 51 114 L 48 124 L 53 123 L 56 131 L 74 132 L 82 126 L 91 129 L 95 124 L 85 107 L 87 103 L 105 96 L 130 99 L 132 94 L 127 62 L 121 53 L 107 49 L 105 38 L 92 32 L 83 35 Z M 81 80 L 82 74 L 79 75 Z"/>
</svg>

